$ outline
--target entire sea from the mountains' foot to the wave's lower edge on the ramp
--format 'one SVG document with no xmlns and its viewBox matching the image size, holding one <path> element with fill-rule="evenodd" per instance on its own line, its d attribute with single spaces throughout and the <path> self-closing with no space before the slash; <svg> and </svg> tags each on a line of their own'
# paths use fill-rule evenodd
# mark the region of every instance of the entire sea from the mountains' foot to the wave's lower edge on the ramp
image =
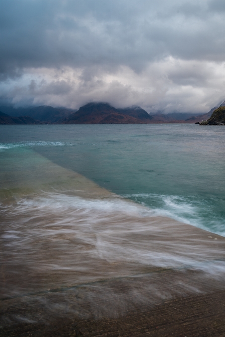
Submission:
<svg viewBox="0 0 225 337">
<path fill-rule="evenodd" d="M 224 275 L 185 228 L 225 236 L 225 127 L 0 125 L 0 217 L 2 300 L 157 268 Z"/>
</svg>

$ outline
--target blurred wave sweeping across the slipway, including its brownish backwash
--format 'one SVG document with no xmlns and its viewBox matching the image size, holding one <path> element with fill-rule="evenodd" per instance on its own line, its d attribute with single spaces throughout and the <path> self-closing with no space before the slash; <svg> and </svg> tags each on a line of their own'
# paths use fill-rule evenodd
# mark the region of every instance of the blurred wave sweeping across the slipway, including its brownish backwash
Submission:
<svg viewBox="0 0 225 337">
<path fill-rule="evenodd" d="M 1 206 L 1 215 L 9 271 L 31 284 L 41 284 L 37 275 L 75 283 L 153 267 L 225 273 L 223 238 L 124 199 L 43 192 Z"/>
</svg>

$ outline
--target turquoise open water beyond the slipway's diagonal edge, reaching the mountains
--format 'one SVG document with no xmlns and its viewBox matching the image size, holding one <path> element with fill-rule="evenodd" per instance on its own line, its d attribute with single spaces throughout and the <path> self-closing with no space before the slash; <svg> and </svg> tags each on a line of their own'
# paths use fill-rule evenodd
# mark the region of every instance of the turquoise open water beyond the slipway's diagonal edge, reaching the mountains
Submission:
<svg viewBox="0 0 225 337">
<path fill-rule="evenodd" d="M 16 172 L 26 168 L 18 169 L 14 155 L 27 150 L 146 205 L 157 215 L 225 236 L 223 126 L 0 126 L 1 170 L 11 172 L 10 178 L 1 174 L 4 187 L 13 174 L 14 185 L 19 184 Z M 26 177 L 36 179 L 32 171 Z"/>
</svg>

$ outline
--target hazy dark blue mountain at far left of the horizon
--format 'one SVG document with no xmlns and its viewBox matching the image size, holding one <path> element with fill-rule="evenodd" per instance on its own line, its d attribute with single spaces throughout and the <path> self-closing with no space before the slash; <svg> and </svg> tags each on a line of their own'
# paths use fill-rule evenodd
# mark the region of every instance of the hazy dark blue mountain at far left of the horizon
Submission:
<svg viewBox="0 0 225 337">
<path fill-rule="evenodd" d="M 51 106 L 40 106 L 33 108 L 18 108 L 2 106 L 0 110 L 9 114 L 12 117 L 30 116 L 33 119 L 38 119 L 48 123 L 54 123 L 59 119 L 66 118 L 76 110 L 70 110 L 66 108 L 53 108 Z"/>
</svg>

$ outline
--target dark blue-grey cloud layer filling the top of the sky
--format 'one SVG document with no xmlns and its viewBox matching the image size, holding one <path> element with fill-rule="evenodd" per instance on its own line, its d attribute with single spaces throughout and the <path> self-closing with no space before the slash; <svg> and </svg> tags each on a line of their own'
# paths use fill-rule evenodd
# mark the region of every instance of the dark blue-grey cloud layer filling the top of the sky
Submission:
<svg viewBox="0 0 225 337">
<path fill-rule="evenodd" d="M 102 63 L 142 68 L 169 55 L 223 60 L 224 16 L 209 11 L 223 3 L 206 3 L 1 0 L 1 72 Z"/>
</svg>

